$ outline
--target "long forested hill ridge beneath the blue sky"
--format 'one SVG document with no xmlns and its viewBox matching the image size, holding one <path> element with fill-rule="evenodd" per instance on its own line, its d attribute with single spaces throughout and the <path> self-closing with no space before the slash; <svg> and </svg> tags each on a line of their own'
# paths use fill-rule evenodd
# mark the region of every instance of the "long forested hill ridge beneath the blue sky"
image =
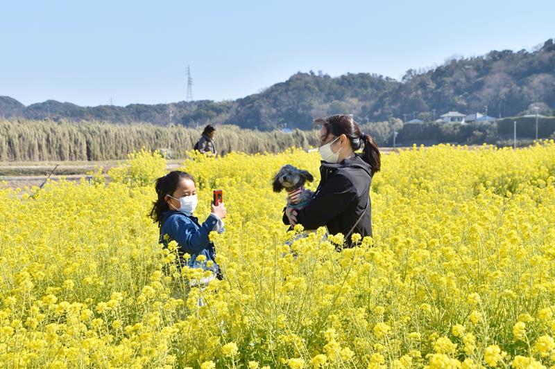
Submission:
<svg viewBox="0 0 555 369">
<path fill-rule="evenodd" d="M 232 123 L 275 129 L 309 127 L 316 116 L 354 114 L 361 123 L 394 116 L 429 120 L 446 111 L 471 114 L 488 107 L 490 116 L 515 116 L 555 111 L 555 42 L 533 51 L 491 51 L 486 55 L 452 58 L 428 71 L 407 71 L 401 81 L 369 73 L 329 75 L 296 73 L 260 93 L 234 101 L 200 100 L 170 105 L 133 104 L 80 107 L 49 100 L 24 106 L 0 96 L 0 117 L 30 119 L 106 120 L 197 126 Z M 171 111 L 171 116 L 168 113 Z"/>
</svg>

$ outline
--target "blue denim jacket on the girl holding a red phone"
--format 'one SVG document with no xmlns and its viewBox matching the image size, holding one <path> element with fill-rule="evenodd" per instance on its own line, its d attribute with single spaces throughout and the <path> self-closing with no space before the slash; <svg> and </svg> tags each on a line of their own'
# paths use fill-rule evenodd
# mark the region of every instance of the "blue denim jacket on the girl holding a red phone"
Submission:
<svg viewBox="0 0 555 369">
<path fill-rule="evenodd" d="M 168 210 L 162 213 L 160 243 L 167 247 L 169 241 L 175 240 L 178 243 L 181 262 L 183 261 L 183 255 L 188 253 L 190 255 L 189 260 L 187 260 L 188 267 L 212 270 L 216 275 L 219 275 L 220 268 L 216 264 L 216 248 L 208 238 L 218 222 L 218 217 L 211 214 L 201 225 L 198 223 L 197 217 L 186 215 L 178 210 Z M 164 240 L 164 235 L 169 236 L 168 241 Z M 197 262 L 198 255 L 205 255 L 205 262 Z M 214 263 L 212 267 L 207 267 L 209 260 Z"/>
</svg>

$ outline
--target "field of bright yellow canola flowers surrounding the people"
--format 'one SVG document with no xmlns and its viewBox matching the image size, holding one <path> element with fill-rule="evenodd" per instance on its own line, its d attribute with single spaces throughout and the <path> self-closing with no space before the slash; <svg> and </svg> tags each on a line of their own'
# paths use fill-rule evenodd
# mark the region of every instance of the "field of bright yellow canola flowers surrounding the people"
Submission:
<svg viewBox="0 0 555 369">
<path fill-rule="evenodd" d="M 0 366 L 6 368 L 545 368 L 555 364 L 555 143 L 413 147 L 383 157 L 374 240 L 293 244 L 271 191 L 317 153 L 194 156 L 225 280 L 189 288 L 146 214 L 159 155 L 89 183 L 0 190 Z M 317 181 L 316 181 L 317 183 Z M 314 183 L 313 189 L 316 186 Z M 198 298 L 205 301 L 199 307 Z"/>
</svg>

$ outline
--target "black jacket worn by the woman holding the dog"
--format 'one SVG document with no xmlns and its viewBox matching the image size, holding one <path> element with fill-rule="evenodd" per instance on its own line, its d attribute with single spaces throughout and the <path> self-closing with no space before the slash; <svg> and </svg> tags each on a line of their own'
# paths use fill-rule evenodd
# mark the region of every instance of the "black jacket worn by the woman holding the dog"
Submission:
<svg viewBox="0 0 555 369">
<path fill-rule="evenodd" d="M 370 165 L 357 154 L 341 163 L 322 161 L 320 174 L 320 184 L 314 197 L 305 208 L 298 211 L 298 224 L 302 224 L 305 229 L 327 226 L 332 235 L 347 235 L 368 205 L 366 213 L 352 233 L 359 233 L 362 237 L 371 236 Z M 283 222 L 289 225 L 285 214 Z M 345 241 L 350 246 L 350 240 Z"/>
</svg>

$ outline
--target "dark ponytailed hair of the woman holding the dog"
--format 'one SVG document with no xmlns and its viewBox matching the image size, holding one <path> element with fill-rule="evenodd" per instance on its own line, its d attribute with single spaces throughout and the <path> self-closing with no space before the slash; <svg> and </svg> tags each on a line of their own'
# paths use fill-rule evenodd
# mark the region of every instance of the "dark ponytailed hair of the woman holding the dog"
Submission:
<svg viewBox="0 0 555 369">
<path fill-rule="evenodd" d="M 382 159 L 377 143 L 372 136 L 361 132 L 358 123 L 353 118 L 345 115 L 329 116 L 314 120 L 314 125 L 325 127 L 327 134 L 331 133 L 337 137 L 344 134 L 351 143 L 352 150 L 359 150 L 364 144 L 361 154 L 362 160 L 372 167 L 372 174 L 379 172 L 382 166 Z"/>
</svg>

